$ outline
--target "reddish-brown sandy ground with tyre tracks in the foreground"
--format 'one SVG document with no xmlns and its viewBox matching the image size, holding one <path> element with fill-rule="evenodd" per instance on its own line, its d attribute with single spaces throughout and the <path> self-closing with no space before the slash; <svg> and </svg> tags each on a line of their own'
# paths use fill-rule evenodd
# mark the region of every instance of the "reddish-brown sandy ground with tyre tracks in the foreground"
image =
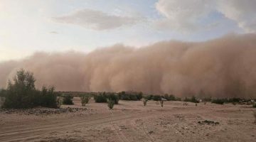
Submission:
<svg viewBox="0 0 256 142">
<path fill-rule="evenodd" d="M 75 105 L 81 107 L 79 98 Z M 63 106 L 68 107 L 68 106 Z M 87 110 L 60 114 L 0 113 L 0 141 L 256 141 L 256 124 L 246 105 L 198 104 L 154 101 L 119 101 L 107 104 L 90 100 Z M 198 121 L 219 124 L 199 124 Z"/>
</svg>

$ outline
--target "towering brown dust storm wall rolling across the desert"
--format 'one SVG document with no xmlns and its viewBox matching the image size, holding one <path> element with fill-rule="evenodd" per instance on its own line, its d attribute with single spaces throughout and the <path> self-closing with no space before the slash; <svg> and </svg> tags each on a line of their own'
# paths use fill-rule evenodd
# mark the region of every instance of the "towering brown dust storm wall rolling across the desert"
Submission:
<svg viewBox="0 0 256 142">
<path fill-rule="evenodd" d="M 61 91 L 169 93 L 179 97 L 256 97 L 256 35 L 201 43 L 176 40 L 142 48 L 114 45 L 92 53 L 35 53 L 0 62 L 0 87 L 24 68 L 41 87 Z"/>
</svg>

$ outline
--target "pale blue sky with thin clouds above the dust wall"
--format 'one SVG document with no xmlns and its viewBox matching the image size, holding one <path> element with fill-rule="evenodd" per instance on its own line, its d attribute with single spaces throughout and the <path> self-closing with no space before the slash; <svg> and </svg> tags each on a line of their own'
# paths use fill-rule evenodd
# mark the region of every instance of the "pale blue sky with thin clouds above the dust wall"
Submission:
<svg viewBox="0 0 256 142">
<path fill-rule="evenodd" d="M 255 0 L 0 0 L 0 62 L 37 51 L 255 33 Z"/>
</svg>

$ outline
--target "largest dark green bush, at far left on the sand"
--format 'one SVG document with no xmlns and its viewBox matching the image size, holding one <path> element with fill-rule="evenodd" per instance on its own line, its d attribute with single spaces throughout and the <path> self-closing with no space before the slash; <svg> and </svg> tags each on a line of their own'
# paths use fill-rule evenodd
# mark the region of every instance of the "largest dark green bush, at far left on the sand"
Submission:
<svg viewBox="0 0 256 142">
<path fill-rule="evenodd" d="M 13 82 L 9 80 L 7 89 L 4 93 L 4 108 L 32 108 L 37 106 L 58 107 L 57 95 L 54 87 L 43 87 L 37 90 L 35 78 L 32 72 L 21 69 L 16 72 Z"/>
</svg>

